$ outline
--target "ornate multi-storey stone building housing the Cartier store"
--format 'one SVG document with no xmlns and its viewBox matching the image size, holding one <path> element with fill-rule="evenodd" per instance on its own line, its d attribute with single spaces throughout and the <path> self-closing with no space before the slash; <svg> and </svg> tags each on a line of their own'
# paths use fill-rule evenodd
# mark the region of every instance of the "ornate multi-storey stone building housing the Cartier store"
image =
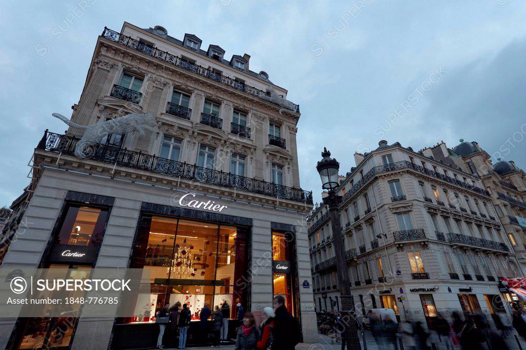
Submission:
<svg viewBox="0 0 526 350">
<path fill-rule="evenodd" d="M 105 28 L 72 121 L 149 112 L 157 127 L 110 134 L 84 159 L 74 155 L 82 130 L 46 130 L 31 184 L 13 203 L 17 220 L 0 240 L 9 268 L 76 267 L 78 276 L 86 267 L 149 269 L 150 299 L 138 301 L 134 317 L 73 318 L 60 337 L 56 318 L 3 319 L 2 347 L 153 348 L 155 313 L 167 301 L 189 305 L 190 346 L 200 341 L 204 303 L 227 301 L 233 338 L 238 302 L 258 313 L 278 294 L 304 341 L 314 340 L 299 106 L 267 73 L 249 69 L 249 55 L 227 60 L 221 47 L 201 43 L 160 26 Z M 171 338 L 167 331 L 167 347 Z"/>
</svg>

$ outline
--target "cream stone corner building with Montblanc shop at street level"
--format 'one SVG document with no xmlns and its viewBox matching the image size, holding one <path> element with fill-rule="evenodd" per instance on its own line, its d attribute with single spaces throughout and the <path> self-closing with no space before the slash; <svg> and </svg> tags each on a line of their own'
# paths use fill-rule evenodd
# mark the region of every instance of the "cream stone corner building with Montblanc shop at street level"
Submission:
<svg viewBox="0 0 526 350">
<path fill-rule="evenodd" d="M 478 174 L 448 161 L 444 150 L 439 156 L 382 140 L 370 153 L 356 153 L 357 166 L 340 178 L 340 220 L 357 315 L 385 307 L 402 321 L 430 326 L 439 312 L 484 313 L 490 320 L 509 314 L 512 300 L 498 281 L 523 275 L 517 244 L 499 220 L 494 192 Z M 316 309 L 338 311 L 327 207 L 316 205 L 308 221 Z"/>
</svg>

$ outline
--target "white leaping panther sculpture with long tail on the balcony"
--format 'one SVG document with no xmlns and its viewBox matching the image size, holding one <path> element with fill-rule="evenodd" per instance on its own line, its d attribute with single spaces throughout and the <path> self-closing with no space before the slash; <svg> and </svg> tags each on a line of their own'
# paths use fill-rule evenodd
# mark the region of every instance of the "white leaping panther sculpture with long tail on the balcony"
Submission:
<svg viewBox="0 0 526 350">
<path fill-rule="evenodd" d="M 131 113 L 124 117 L 118 117 L 92 125 L 78 125 L 61 114 L 53 113 L 52 115 L 70 127 L 84 130 L 84 135 L 75 147 L 75 156 L 78 158 L 86 158 L 86 149 L 89 146 L 100 143 L 102 139 L 110 133 L 125 134 L 137 131 L 141 136 L 145 136 L 145 130 L 154 131 L 156 127 L 155 118 L 149 113 Z"/>
</svg>

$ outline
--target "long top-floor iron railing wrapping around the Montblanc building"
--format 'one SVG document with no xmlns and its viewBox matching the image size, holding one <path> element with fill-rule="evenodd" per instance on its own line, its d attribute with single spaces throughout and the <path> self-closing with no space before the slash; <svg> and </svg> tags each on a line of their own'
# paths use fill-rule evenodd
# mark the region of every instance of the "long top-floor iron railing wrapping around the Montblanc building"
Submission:
<svg viewBox="0 0 526 350">
<path fill-rule="evenodd" d="M 474 185 L 469 184 L 467 182 L 460 181 L 460 180 L 455 179 L 455 178 L 451 178 L 449 176 L 446 176 L 444 174 L 440 174 L 440 173 L 435 172 L 433 170 L 429 170 L 429 169 L 424 168 L 422 166 L 419 166 L 417 164 L 413 164 L 410 161 L 402 160 L 402 161 L 399 161 L 399 162 L 384 164 L 384 165 L 380 165 L 380 166 L 376 166 L 376 167 L 371 168 L 371 170 L 369 170 L 363 176 L 363 178 L 361 178 L 361 180 L 357 181 L 351 187 L 351 189 L 345 195 L 343 195 L 343 200 L 342 200 L 342 204 L 341 205 L 345 205 L 345 202 L 349 198 L 351 198 L 356 192 L 358 192 L 361 189 L 362 186 L 364 186 L 370 179 L 375 177 L 377 174 L 381 174 L 381 173 L 385 173 L 385 172 L 389 172 L 389 171 L 395 171 L 395 170 L 404 170 L 404 169 L 411 169 L 411 170 L 414 170 L 414 171 L 418 171 L 418 172 L 420 172 L 422 174 L 425 174 L 427 176 L 430 176 L 430 177 L 433 177 L 433 178 L 436 178 L 436 179 L 440 179 L 442 181 L 449 182 L 449 183 L 454 184 L 454 185 L 456 185 L 458 187 L 462 187 L 462 188 L 471 190 L 473 192 L 477 192 L 479 194 L 486 195 L 488 197 L 490 195 L 487 190 L 484 190 L 484 189 L 482 189 L 480 187 L 474 186 Z M 443 205 L 443 203 L 441 205 Z"/>
</svg>

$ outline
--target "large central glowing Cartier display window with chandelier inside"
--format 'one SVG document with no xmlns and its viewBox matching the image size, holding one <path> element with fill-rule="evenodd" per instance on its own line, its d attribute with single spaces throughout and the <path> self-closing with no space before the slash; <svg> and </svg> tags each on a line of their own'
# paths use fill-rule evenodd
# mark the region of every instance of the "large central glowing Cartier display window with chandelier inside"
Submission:
<svg viewBox="0 0 526 350">
<path fill-rule="evenodd" d="M 186 303 L 199 320 L 205 303 L 213 310 L 244 300 L 245 228 L 195 220 L 143 215 L 132 268 L 149 270 L 150 295 L 141 295 L 134 317 L 119 323 L 152 323 L 165 302 Z M 236 283 L 238 281 L 238 283 Z"/>
</svg>

